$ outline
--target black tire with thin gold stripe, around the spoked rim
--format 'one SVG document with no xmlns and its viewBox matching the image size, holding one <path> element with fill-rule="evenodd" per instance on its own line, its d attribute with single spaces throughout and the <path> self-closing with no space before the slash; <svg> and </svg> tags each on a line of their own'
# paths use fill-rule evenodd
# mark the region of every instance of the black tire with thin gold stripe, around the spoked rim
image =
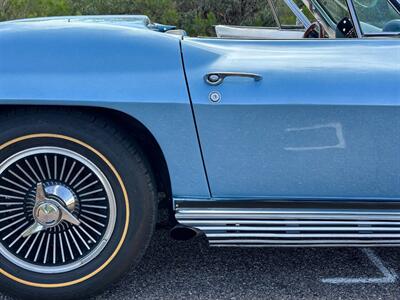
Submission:
<svg viewBox="0 0 400 300">
<path fill-rule="evenodd" d="M 0 129 L 0 164 L 15 153 L 34 147 L 74 151 L 106 176 L 117 211 L 112 235 L 104 249 L 72 271 L 33 272 L 12 263 L 0 252 L 0 291 L 17 298 L 83 299 L 118 281 L 139 262 L 155 227 L 156 186 L 139 145 L 122 134 L 121 128 L 108 124 L 104 117 L 74 109 L 3 112 Z M 0 230 L 2 226 L 0 223 Z"/>
</svg>

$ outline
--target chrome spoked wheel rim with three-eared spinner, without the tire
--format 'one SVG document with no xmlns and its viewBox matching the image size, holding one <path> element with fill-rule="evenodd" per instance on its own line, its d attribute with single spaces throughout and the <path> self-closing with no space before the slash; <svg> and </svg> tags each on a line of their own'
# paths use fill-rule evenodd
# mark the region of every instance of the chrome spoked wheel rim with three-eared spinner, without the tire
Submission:
<svg viewBox="0 0 400 300">
<path fill-rule="evenodd" d="M 19 267 L 77 269 L 104 249 L 115 222 L 111 185 L 86 157 L 36 147 L 0 164 L 0 253 Z"/>
</svg>

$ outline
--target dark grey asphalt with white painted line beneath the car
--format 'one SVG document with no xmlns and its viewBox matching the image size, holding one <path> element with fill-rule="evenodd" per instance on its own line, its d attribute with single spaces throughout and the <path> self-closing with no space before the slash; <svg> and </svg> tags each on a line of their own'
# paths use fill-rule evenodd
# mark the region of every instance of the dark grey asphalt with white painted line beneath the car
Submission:
<svg viewBox="0 0 400 300">
<path fill-rule="evenodd" d="M 140 265 L 95 300 L 400 299 L 398 274 L 396 248 L 209 248 L 158 229 Z"/>
</svg>

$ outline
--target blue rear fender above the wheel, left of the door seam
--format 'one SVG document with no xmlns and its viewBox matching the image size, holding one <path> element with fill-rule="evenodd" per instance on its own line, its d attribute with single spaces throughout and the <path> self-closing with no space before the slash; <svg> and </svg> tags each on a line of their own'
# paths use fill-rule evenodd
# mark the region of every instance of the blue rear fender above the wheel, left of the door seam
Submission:
<svg viewBox="0 0 400 300">
<path fill-rule="evenodd" d="M 0 104 L 127 113 L 158 141 L 174 196 L 210 197 L 180 37 L 96 22 L 0 23 Z"/>
</svg>

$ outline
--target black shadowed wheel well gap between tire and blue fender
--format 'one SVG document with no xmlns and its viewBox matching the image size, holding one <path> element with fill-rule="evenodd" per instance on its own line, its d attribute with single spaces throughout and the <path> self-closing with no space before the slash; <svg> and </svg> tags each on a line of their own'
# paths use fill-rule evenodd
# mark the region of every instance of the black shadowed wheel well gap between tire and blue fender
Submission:
<svg viewBox="0 0 400 300">
<path fill-rule="evenodd" d="M 83 112 L 112 122 L 121 133 L 135 140 L 147 157 L 157 184 L 159 206 L 168 207 L 172 203 L 171 180 L 164 153 L 151 131 L 135 117 L 112 108 L 92 106 L 53 106 L 53 105 L 2 105 L 0 112 L 26 109 L 65 109 Z"/>
</svg>

